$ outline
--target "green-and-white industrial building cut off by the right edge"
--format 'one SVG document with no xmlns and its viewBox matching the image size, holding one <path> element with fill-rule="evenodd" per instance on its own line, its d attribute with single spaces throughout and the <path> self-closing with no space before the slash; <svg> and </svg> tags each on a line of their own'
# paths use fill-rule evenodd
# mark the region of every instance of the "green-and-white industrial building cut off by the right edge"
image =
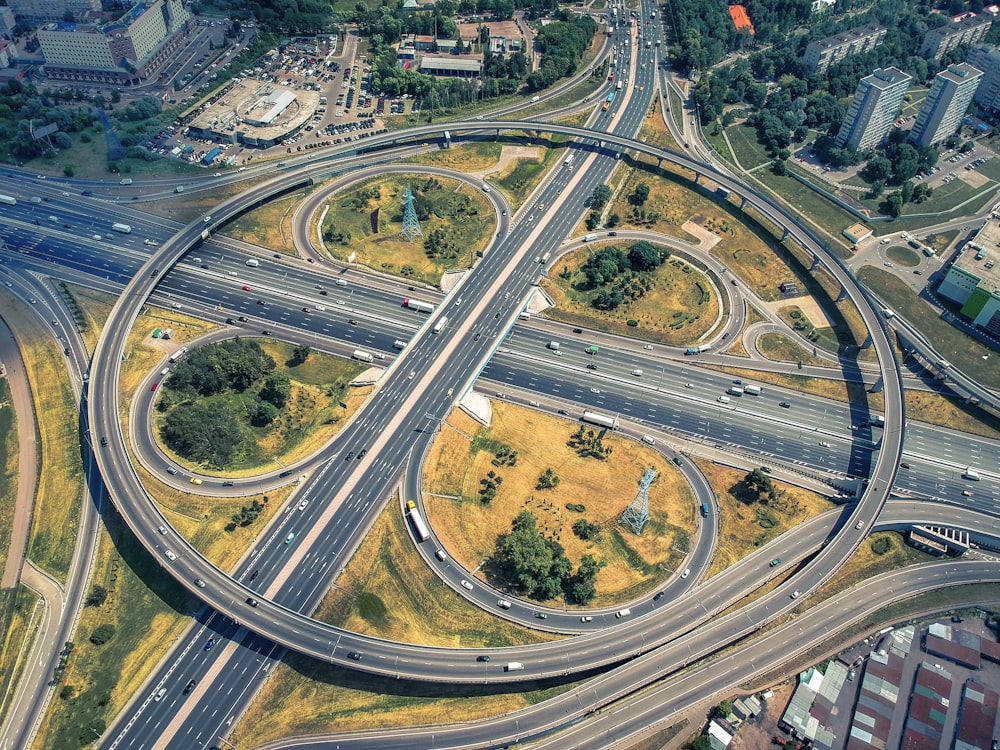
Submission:
<svg viewBox="0 0 1000 750">
<path fill-rule="evenodd" d="M 959 250 L 938 287 L 938 294 L 961 305 L 960 313 L 977 328 L 1000 338 L 1000 213 L 994 212 Z"/>
</svg>

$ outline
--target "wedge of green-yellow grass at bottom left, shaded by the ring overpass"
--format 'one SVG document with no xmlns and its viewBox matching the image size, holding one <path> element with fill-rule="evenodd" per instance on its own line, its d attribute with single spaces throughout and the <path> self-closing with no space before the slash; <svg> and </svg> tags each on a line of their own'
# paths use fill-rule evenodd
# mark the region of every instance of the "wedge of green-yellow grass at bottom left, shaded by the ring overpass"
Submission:
<svg viewBox="0 0 1000 750">
<path fill-rule="evenodd" d="M 61 686 L 33 745 L 37 750 L 81 747 L 94 740 L 129 701 L 189 622 L 197 601 L 165 575 L 118 516 L 105 514 L 91 578 L 108 591 L 104 604 L 85 607 L 74 634 Z M 99 625 L 115 635 L 89 641 Z"/>
</svg>

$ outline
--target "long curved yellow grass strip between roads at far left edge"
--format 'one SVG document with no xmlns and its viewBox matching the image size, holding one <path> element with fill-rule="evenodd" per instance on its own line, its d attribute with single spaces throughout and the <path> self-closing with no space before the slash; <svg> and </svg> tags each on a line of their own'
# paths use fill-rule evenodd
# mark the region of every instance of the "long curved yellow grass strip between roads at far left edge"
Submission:
<svg viewBox="0 0 1000 750">
<path fill-rule="evenodd" d="M 38 438 L 38 488 L 27 554 L 62 581 L 69 570 L 83 498 L 78 404 L 62 348 L 53 343 L 38 318 L 6 290 L 0 299 L 24 359 Z M 23 435 L 21 439 L 32 437 Z"/>
</svg>

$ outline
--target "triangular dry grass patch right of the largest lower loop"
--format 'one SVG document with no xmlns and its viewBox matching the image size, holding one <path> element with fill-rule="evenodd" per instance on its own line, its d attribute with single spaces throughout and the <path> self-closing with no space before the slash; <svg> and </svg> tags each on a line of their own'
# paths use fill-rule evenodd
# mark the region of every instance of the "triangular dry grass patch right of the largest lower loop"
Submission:
<svg viewBox="0 0 1000 750">
<path fill-rule="evenodd" d="M 774 480 L 779 490 L 777 503 L 748 504 L 741 489 L 745 471 L 696 459 L 719 499 L 720 532 L 715 560 L 708 577 L 739 562 L 775 537 L 795 528 L 807 518 L 819 515 L 835 504 L 815 492 Z"/>
</svg>

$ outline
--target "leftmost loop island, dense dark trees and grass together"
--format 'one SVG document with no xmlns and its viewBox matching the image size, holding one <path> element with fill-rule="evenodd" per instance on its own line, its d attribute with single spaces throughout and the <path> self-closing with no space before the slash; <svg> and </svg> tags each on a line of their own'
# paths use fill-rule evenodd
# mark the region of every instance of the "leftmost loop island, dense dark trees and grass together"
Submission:
<svg viewBox="0 0 1000 750">
<path fill-rule="evenodd" d="M 272 340 L 198 347 L 163 381 L 156 432 L 181 465 L 227 475 L 273 469 L 276 459 L 295 462 L 333 437 L 365 368 Z"/>
</svg>

